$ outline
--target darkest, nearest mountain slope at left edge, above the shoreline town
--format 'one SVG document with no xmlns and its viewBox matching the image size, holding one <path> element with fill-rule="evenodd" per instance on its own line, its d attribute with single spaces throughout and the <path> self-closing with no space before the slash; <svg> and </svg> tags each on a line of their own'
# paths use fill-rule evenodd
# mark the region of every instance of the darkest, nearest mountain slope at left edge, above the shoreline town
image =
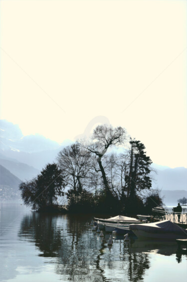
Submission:
<svg viewBox="0 0 187 282">
<path fill-rule="evenodd" d="M 8 169 L 0 165 L 0 199 L 15 199 L 20 197 L 18 186 L 21 180 Z"/>
</svg>

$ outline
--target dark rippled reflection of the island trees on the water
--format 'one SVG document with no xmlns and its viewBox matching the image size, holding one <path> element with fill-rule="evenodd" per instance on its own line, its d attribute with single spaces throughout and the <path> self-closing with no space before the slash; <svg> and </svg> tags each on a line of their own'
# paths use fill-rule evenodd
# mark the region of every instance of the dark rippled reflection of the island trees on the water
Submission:
<svg viewBox="0 0 187 282">
<path fill-rule="evenodd" d="M 133 281 L 144 279 L 150 267 L 149 251 L 171 255 L 176 246 L 167 248 L 163 244 L 135 241 L 133 244 L 115 241 L 107 246 L 110 235 L 104 238 L 92 232 L 86 224 L 89 215 L 44 215 L 33 212 L 25 216 L 20 225 L 21 240 L 34 241 L 45 257 L 55 257 L 55 271 L 62 280 L 83 281 Z M 162 248 L 163 247 L 163 248 Z M 165 248 L 166 247 L 166 248 Z M 170 252 L 167 254 L 167 250 Z M 181 261 L 180 252 L 177 261 Z"/>
</svg>

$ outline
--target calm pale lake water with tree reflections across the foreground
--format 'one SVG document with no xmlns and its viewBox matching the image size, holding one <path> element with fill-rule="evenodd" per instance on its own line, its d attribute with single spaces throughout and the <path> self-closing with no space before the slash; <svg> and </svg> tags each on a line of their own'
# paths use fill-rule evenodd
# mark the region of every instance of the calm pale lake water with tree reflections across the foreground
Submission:
<svg viewBox="0 0 187 282">
<path fill-rule="evenodd" d="M 107 246 L 90 215 L 47 215 L 0 204 L 0 281 L 186 281 L 187 252 L 175 242 L 116 239 Z"/>
</svg>

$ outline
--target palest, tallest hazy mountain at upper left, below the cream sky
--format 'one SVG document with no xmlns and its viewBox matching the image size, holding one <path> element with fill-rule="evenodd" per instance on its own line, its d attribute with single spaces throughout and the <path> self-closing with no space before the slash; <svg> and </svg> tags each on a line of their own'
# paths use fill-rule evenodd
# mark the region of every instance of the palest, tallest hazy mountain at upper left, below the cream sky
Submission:
<svg viewBox="0 0 187 282">
<path fill-rule="evenodd" d="M 66 145 L 72 143 L 66 139 L 61 144 L 51 139 L 45 138 L 40 134 L 23 136 L 19 126 L 8 122 L 5 119 L 0 120 L 0 158 L 10 161 L 25 163 L 33 168 L 41 170 L 48 162 L 53 162 L 56 159 L 58 152 Z M 17 174 L 17 171 L 10 166 L 10 163 L 3 165 L 12 173 Z M 20 165 L 20 164 L 19 164 Z M 23 167 L 22 167 L 23 168 Z M 19 174 L 23 179 L 34 175 L 33 169 L 24 167 L 24 173 Z M 29 171 L 29 172 L 28 172 Z"/>
</svg>

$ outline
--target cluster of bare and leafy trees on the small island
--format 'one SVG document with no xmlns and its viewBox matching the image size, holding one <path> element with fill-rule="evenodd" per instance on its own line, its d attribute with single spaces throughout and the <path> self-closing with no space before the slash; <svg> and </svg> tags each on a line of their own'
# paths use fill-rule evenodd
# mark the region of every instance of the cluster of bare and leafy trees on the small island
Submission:
<svg viewBox="0 0 187 282">
<path fill-rule="evenodd" d="M 141 191 L 151 188 L 151 163 L 144 144 L 124 128 L 98 125 L 89 140 L 64 147 L 57 163 L 22 182 L 22 198 L 35 207 L 53 205 L 65 189 L 69 211 L 133 213 L 144 207 Z"/>
</svg>

